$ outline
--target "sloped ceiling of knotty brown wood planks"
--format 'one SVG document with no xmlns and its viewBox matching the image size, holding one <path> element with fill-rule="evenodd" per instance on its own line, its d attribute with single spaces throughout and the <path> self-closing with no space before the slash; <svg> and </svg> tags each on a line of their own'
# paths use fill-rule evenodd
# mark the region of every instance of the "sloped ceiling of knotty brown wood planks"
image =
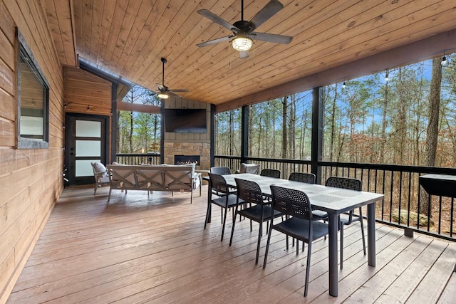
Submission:
<svg viewBox="0 0 456 304">
<path fill-rule="evenodd" d="M 293 41 L 255 41 L 249 58 L 239 59 L 227 41 L 196 46 L 231 33 L 197 11 L 234 23 L 241 0 L 42 1 L 61 63 L 75 65 L 76 53 L 155 90 L 162 82 L 160 58 L 167 58 L 165 85 L 216 105 L 456 28 L 452 0 L 280 0 L 284 9 L 256 31 Z M 245 0 L 244 19 L 268 1 Z"/>
</svg>

